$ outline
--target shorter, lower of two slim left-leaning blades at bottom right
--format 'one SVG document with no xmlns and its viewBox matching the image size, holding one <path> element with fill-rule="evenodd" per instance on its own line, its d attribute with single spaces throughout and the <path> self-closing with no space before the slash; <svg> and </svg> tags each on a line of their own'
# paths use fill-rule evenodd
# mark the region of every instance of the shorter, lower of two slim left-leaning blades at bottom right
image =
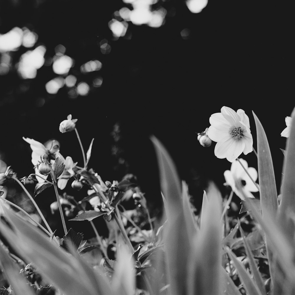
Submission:
<svg viewBox="0 0 295 295">
<path fill-rule="evenodd" d="M 230 250 L 230 248 L 228 248 L 228 247 L 227 247 L 227 253 L 235 265 L 237 273 L 240 277 L 240 280 L 243 283 L 245 290 L 247 291 L 247 294 L 249 294 L 249 295 L 250 294 L 251 295 L 262 295 L 260 293 L 257 285 L 252 280 L 251 276 L 245 270 L 244 265 L 237 259 L 235 253 L 233 253 L 232 250 Z"/>
</svg>

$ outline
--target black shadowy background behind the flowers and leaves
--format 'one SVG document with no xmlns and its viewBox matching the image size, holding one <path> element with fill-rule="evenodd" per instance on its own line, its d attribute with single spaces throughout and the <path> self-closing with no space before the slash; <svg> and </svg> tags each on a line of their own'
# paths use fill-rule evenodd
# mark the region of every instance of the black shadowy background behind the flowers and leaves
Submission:
<svg viewBox="0 0 295 295">
<path fill-rule="evenodd" d="M 50 66 L 40 68 L 35 79 L 23 80 L 13 68 L 0 76 L 1 159 L 19 177 L 30 174 L 31 150 L 24 136 L 40 142 L 55 138 L 64 157 L 81 163 L 75 133 L 58 131 L 60 122 L 72 114 L 78 118 L 85 150 L 95 138 L 89 167 L 104 181 L 134 173 L 149 206 L 160 206 L 158 168 L 149 140 L 155 135 L 171 153 L 199 205 L 208 179 L 224 192 L 223 172 L 230 163 L 214 156 L 214 143 L 201 147 L 195 132 L 209 127 L 211 114 L 229 106 L 248 114 L 255 148 L 252 111 L 263 124 L 279 191 L 283 163 L 279 148 L 286 143 L 280 133 L 294 108 L 290 1 L 209 0 L 198 14 L 191 13 L 184 1 L 155 5 L 167 10 L 163 26 L 129 23 L 131 38 L 114 40 L 108 22 L 114 11 L 128 6 L 122 1 L 2 0 L 0 34 L 27 26 L 39 36 L 36 46 L 44 44 L 51 57 L 55 46 L 64 45 L 65 54 L 75 60 L 73 73 L 98 59 L 103 84 L 88 96 L 72 99 L 65 87 L 56 95 L 47 94 L 45 83 L 57 76 Z M 189 30 L 188 39 L 181 37 L 183 29 Z M 100 51 L 103 39 L 111 46 L 109 54 Z M 25 50 L 20 48 L 13 58 Z M 79 78 L 87 81 L 81 74 Z M 112 137 L 116 123 L 118 142 Z M 241 157 L 257 168 L 254 153 Z M 124 163 L 119 164 L 119 158 Z"/>
</svg>

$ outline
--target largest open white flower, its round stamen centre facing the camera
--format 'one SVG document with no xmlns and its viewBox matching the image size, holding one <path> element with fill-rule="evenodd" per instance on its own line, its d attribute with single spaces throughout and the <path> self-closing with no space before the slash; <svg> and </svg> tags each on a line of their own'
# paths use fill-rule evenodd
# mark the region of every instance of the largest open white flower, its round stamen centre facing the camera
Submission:
<svg viewBox="0 0 295 295">
<path fill-rule="evenodd" d="M 212 114 L 209 122 L 207 135 L 217 142 L 214 149 L 217 158 L 233 162 L 241 153 L 247 155 L 253 151 L 249 117 L 242 109 L 235 112 L 223 106 L 221 113 Z"/>
</svg>

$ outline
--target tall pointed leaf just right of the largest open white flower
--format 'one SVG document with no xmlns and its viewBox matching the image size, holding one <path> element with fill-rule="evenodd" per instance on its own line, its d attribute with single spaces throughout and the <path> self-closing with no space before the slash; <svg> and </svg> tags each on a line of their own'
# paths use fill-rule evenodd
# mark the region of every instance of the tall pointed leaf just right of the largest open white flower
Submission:
<svg viewBox="0 0 295 295">
<path fill-rule="evenodd" d="M 269 214 L 271 214 L 272 216 L 276 216 L 278 212 L 278 196 L 276 191 L 276 179 L 273 171 L 273 160 L 271 158 L 271 151 L 268 145 L 265 131 L 254 112 L 253 116 L 257 133 L 258 179 L 262 214 L 264 213 L 264 210 L 267 210 Z M 295 155 L 293 167 L 295 167 Z M 293 179 L 295 181 L 294 176 Z M 294 194 L 292 196 L 293 198 Z"/>
</svg>

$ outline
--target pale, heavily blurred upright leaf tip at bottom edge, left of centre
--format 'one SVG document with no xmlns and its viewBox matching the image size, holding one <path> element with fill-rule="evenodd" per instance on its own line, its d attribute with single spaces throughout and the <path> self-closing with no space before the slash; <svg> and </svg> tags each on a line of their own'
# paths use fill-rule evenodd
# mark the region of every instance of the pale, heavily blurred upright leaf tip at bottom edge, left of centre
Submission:
<svg viewBox="0 0 295 295">
<path fill-rule="evenodd" d="M 134 260 L 124 244 L 118 249 L 118 259 L 112 277 L 115 294 L 130 295 L 135 293 Z"/>
</svg>

